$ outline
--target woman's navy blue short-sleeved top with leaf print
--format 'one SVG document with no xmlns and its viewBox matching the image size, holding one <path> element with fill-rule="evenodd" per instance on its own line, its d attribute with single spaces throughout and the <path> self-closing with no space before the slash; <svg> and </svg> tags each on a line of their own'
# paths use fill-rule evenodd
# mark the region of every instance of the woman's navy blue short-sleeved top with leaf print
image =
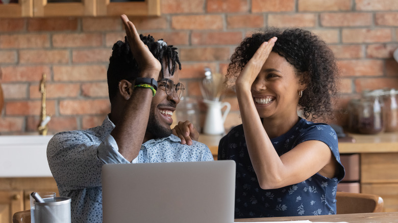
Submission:
<svg viewBox="0 0 398 223">
<path fill-rule="evenodd" d="M 218 159 L 236 162 L 235 218 L 336 214 L 337 183 L 344 177 L 336 132 L 323 123 L 299 118 L 287 133 L 272 138 L 278 155 L 296 145 L 318 140 L 329 146 L 339 162 L 338 176 L 332 179 L 315 174 L 307 180 L 278 189 L 261 189 L 247 152 L 243 126 L 233 128 L 218 147 Z"/>
</svg>

